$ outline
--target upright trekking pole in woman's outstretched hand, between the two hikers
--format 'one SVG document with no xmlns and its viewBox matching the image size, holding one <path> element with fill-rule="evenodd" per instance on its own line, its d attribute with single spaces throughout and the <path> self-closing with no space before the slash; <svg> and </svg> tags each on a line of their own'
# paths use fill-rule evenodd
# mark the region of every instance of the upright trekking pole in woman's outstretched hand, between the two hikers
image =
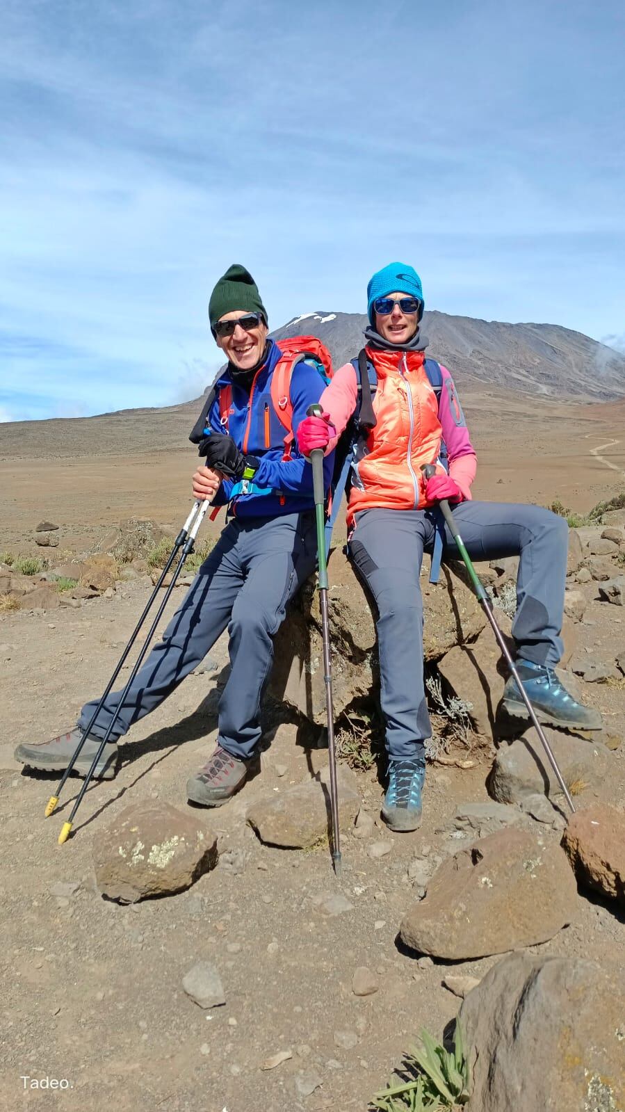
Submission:
<svg viewBox="0 0 625 1112">
<path fill-rule="evenodd" d="M 321 406 L 309 406 L 307 417 L 320 417 Z M 326 522 L 324 490 L 324 453 L 314 448 L 310 453 L 312 465 L 312 489 L 315 516 L 317 519 L 317 557 L 319 564 L 319 602 L 321 604 L 321 632 L 324 639 L 324 682 L 326 684 L 326 714 L 328 718 L 328 755 L 330 761 L 330 813 L 333 820 L 333 864 L 335 875 L 340 876 L 340 843 L 338 831 L 338 791 L 336 783 L 335 713 L 333 705 L 333 664 L 330 658 L 330 634 L 328 619 L 328 565 L 326 558 Z"/>
</svg>

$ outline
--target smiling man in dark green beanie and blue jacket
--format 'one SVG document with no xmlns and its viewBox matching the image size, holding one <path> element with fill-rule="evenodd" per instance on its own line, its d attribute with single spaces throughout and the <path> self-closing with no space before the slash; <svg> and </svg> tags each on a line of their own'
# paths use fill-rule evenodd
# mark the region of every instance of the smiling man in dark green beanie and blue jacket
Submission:
<svg viewBox="0 0 625 1112">
<path fill-rule="evenodd" d="M 316 529 L 310 464 L 297 449 L 285 453 L 285 428 L 271 399 L 280 347 L 268 338 L 267 310 L 244 267 L 231 266 L 219 279 L 208 312 L 228 365 L 205 406 L 198 435 L 191 434 L 206 456 L 192 490 L 196 498 L 228 505 L 231 516 L 162 641 L 139 669 L 96 776 L 115 775 L 118 739 L 171 694 L 228 627 L 231 668 L 219 702 L 217 747 L 187 783 L 188 798 L 210 807 L 237 792 L 257 763 L 272 637 L 287 603 L 315 568 Z M 324 385 L 310 363 L 292 367 L 294 427 L 319 400 Z M 327 459 L 328 481 L 330 473 Z M 73 766 L 78 775 L 86 775 L 120 697 L 120 692 L 107 697 Z M 96 706 L 97 701 L 83 706 L 68 733 L 18 746 L 16 758 L 31 768 L 62 771 Z"/>
</svg>

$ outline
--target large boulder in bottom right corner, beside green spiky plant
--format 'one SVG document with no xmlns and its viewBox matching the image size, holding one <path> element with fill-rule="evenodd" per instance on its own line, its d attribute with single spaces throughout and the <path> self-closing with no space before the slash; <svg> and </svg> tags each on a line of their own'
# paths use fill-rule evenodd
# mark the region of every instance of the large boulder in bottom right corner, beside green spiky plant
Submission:
<svg viewBox="0 0 625 1112">
<path fill-rule="evenodd" d="M 460 1006 L 467 1112 L 625 1108 L 625 977 L 581 957 L 510 954 Z"/>
</svg>

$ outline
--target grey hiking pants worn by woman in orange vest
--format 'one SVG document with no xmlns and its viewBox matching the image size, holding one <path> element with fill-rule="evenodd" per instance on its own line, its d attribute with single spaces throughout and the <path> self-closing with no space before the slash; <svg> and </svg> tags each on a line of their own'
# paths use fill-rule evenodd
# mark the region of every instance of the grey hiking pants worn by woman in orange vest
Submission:
<svg viewBox="0 0 625 1112">
<path fill-rule="evenodd" d="M 454 518 L 474 560 L 520 556 L 513 637 L 517 656 L 555 667 L 559 637 L 568 526 L 539 506 L 463 502 Z M 365 509 L 356 515 L 349 555 L 377 607 L 380 705 L 391 757 L 419 756 L 431 736 L 424 687 L 424 610 L 419 570 L 431 553 L 436 515 L 431 510 Z M 458 559 L 445 527 L 444 558 Z M 477 569 L 479 574 L 479 568 Z"/>
</svg>

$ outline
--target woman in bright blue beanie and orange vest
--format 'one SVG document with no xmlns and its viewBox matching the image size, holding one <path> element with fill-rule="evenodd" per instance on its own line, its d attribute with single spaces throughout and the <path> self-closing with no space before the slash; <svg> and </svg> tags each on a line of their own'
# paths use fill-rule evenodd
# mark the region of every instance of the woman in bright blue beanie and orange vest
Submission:
<svg viewBox="0 0 625 1112">
<path fill-rule="evenodd" d="M 419 570 L 424 552 L 435 547 L 440 499 L 454 505 L 473 559 L 520 557 L 512 632 L 518 673 L 539 718 L 576 729 L 599 729 L 602 722 L 596 711 L 566 692 L 554 671 L 563 652 L 566 522 L 539 506 L 472 502 L 476 455 L 449 371 L 435 364 L 439 398 L 429 379 L 427 340 L 419 329 L 424 310 L 419 276 L 410 266 L 390 264 L 373 276 L 367 300 L 365 353 L 376 390 L 369 427 L 353 446 L 349 553 L 377 606 L 380 705 L 389 757 L 381 814 L 391 830 L 410 831 L 420 823 L 424 742 L 431 735 L 424 689 Z M 353 417 L 358 420 L 365 385 L 357 359 L 336 371 L 321 396 L 326 413 L 306 418 L 297 430 L 305 455 L 331 446 Z M 444 444 L 448 474 L 440 465 Z M 426 480 L 421 467 L 431 463 L 438 464 L 437 474 Z M 443 555 L 457 558 L 446 527 Z M 504 706 L 512 715 L 526 717 L 512 677 Z"/>
</svg>

